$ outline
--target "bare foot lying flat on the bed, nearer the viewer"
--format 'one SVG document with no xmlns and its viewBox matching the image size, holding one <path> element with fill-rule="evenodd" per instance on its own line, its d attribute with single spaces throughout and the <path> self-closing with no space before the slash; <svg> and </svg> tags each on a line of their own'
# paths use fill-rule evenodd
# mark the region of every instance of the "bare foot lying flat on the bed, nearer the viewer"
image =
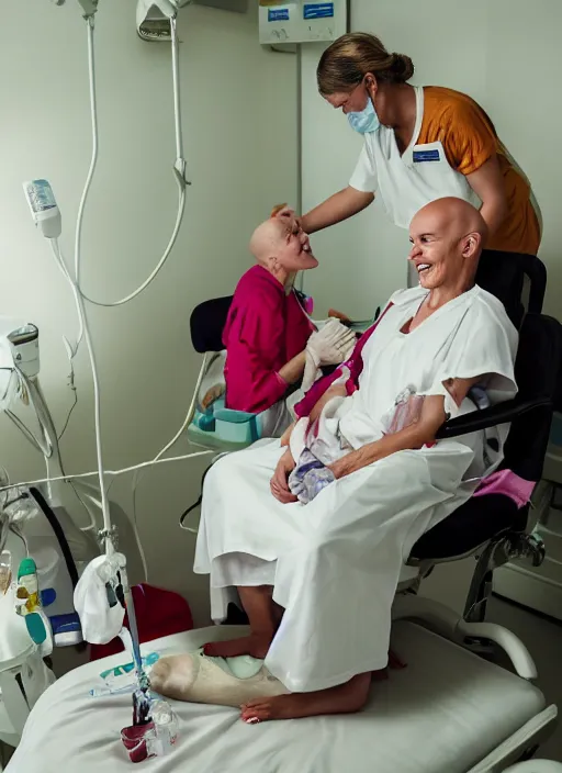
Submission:
<svg viewBox="0 0 562 773">
<path fill-rule="evenodd" d="M 322 714 L 352 714 L 367 703 L 371 674 L 359 674 L 346 684 L 316 693 L 292 693 L 257 698 L 241 706 L 240 718 L 248 725 L 269 719 L 300 719 Z"/>
</svg>

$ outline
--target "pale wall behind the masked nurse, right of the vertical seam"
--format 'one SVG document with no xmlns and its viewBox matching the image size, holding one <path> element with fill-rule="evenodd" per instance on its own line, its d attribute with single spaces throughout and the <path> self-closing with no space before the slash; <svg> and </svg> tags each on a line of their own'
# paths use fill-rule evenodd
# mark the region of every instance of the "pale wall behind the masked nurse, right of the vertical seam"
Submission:
<svg viewBox="0 0 562 773">
<path fill-rule="evenodd" d="M 560 180 L 552 155 L 562 136 L 559 0 L 350 0 L 351 30 L 372 32 L 390 51 L 408 54 L 416 85 L 447 86 L 471 94 L 490 113 L 499 136 L 535 189 L 544 220 L 540 257 L 547 264 L 546 311 L 557 315 L 562 289 Z M 303 46 L 303 206 L 345 187 L 361 147 L 340 111 L 318 96 L 315 69 L 322 45 Z M 329 305 L 364 318 L 405 285 L 406 232 L 379 201 L 357 219 L 314 237 L 319 271 L 305 289 L 321 313 Z M 329 269 L 329 270 L 327 270 Z"/>
</svg>

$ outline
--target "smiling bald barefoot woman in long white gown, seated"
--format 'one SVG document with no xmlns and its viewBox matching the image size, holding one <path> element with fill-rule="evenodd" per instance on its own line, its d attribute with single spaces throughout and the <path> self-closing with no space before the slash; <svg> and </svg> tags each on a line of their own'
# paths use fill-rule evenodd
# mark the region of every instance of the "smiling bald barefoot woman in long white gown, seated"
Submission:
<svg viewBox="0 0 562 773">
<path fill-rule="evenodd" d="M 210 575 L 216 621 L 236 587 L 250 634 L 204 652 L 265 659 L 288 691 L 240 701 L 247 722 L 364 705 L 371 674 L 389 662 L 405 558 L 503 457 L 505 425 L 490 430 L 494 445 L 484 432 L 436 439 L 447 417 L 475 410 L 474 383 L 492 404 L 517 391 L 517 332 L 474 282 L 486 225 L 469 203 L 441 199 L 415 215 L 409 233 L 419 285 L 394 293 L 345 366 L 295 405 L 305 429 L 329 411 L 333 480 L 297 501 L 290 477 L 302 447 L 293 437 L 288 447 L 271 440 L 229 453 L 205 479 L 194 571 Z M 393 426 L 404 394 L 422 399 L 420 411 Z M 319 436 L 301 437 L 318 452 L 311 441 Z"/>
</svg>

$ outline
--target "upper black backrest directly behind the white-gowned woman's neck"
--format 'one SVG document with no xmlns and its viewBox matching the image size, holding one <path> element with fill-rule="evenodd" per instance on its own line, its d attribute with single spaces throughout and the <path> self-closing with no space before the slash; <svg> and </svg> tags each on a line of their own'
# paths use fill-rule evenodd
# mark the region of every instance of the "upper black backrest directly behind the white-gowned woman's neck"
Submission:
<svg viewBox="0 0 562 773">
<path fill-rule="evenodd" d="M 524 305 L 524 281 L 529 280 L 527 309 Z M 476 284 L 498 298 L 507 315 L 519 328 L 525 311 L 540 314 L 547 289 L 547 269 L 535 255 L 484 249 L 476 271 Z"/>
</svg>

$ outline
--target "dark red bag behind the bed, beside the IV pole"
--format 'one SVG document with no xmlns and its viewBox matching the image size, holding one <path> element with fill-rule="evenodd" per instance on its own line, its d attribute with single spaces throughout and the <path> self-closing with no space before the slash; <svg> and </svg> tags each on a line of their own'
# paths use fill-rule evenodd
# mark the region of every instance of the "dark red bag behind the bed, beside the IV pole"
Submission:
<svg viewBox="0 0 562 773">
<path fill-rule="evenodd" d="M 193 629 L 191 609 L 188 602 L 179 593 L 164 591 L 146 583 L 133 585 L 132 592 L 140 643 Z M 123 625 L 128 627 L 126 614 Z M 90 645 L 90 660 L 116 654 L 123 652 L 124 649 L 119 637 L 110 641 L 109 645 Z"/>
</svg>

